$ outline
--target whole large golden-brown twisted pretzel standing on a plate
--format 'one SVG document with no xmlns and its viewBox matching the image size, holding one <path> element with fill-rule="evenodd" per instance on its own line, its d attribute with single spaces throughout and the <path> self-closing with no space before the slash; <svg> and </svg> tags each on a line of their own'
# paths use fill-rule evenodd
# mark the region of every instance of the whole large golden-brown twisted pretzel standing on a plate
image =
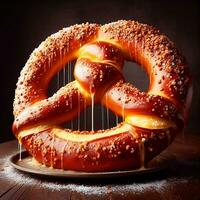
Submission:
<svg viewBox="0 0 200 200">
<path fill-rule="evenodd" d="M 53 76 L 74 59 L 75 81 L 48 97 Z M 125 82 L 125 60 L 147 71 L 148 92 Z M 13 132 L 48 167 L 134 169 L 146 165 L 183 131 L 191 88 L 184 58 L 159 30 L 136 21 L 74 25 L 42 42 L 21 71 Z M 64 122 L 93 103 L 104 104 L 123 122 L 99 131 L 64 129 Z"/>
</svg>

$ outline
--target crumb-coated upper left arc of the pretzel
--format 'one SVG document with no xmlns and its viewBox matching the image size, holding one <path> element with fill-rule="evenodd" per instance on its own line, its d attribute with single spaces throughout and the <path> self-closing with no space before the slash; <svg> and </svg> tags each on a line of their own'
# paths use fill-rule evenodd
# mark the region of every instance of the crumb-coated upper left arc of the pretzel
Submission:
<svg viewBox="0 0 200 200">
<path fill-rule="evenodd" d="M 46 99 L 49 81 L 75 52 L 97 37 L 99 25 L 80 24 L 49 36 L 33 51 L 20 73 L 15 91 L 14 116 L 24 108 Z"/>
</svg>

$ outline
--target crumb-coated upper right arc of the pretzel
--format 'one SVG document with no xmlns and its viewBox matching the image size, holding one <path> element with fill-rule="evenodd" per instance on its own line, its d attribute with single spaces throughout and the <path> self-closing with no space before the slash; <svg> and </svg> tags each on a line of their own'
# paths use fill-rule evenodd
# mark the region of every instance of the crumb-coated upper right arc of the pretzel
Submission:
<svg viewBox="0 0 200 200">
<path fill-rule="evenodd" d="M 135 21 L 118 21 L 104 25 L 99 37 L 112 40 L 127 54 L 127 59 L 140 63 L 150 78 L 149 92 L 170 98 L 183 105 L 190 77 L 183 56 L 167 36 L 152 26 Z"/>
</svg>

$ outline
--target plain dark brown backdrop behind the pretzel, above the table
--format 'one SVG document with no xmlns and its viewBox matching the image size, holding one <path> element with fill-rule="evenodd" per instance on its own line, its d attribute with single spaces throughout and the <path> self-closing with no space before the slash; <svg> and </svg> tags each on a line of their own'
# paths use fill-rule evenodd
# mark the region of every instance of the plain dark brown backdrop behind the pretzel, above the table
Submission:
<svg viewBox="0 0 200 200">
<path fill-rule="evenodd" d="M 108 23 L 134 19 L 154 25 L 175 42 L 186 57 L 194 81 L 187 132 L 199 132 L 200 11 L 198 1 L 57 1 L 1 3 L 0 142 L 13 138 L 12 103 L 20 70 L 30 53 L 50 34 L 82 22 Z M 130 63 L 128 64 L 130 66 Z M 141 89 L 147 79 L 139 68 L 125 67 L 127 80 Z M 99 123 L 99 121 L 96 121 Z"/>
</svg>

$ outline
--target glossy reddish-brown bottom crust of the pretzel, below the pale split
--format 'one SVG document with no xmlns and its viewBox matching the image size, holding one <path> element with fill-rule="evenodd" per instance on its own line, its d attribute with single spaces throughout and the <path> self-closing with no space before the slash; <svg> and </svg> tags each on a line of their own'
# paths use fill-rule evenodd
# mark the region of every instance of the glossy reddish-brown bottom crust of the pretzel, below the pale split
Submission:
<svg viewBox="0 0 200 200">
<path fill-rule="evenodd" d="M 167 129 L 149 133 L 149 130 L 136 129 L 139 137 L 126 131 L 90 142 L 63 140 L 48 129 L 26 136 L 22 142 L 33 157 L 48 167 L 89 172 L 113 171 L 138 168 L 141 162 L 145 165 L 172 142 L 177 131 Z M 144 154 L 143 161 L 141 152 Z"/>
</svg>

